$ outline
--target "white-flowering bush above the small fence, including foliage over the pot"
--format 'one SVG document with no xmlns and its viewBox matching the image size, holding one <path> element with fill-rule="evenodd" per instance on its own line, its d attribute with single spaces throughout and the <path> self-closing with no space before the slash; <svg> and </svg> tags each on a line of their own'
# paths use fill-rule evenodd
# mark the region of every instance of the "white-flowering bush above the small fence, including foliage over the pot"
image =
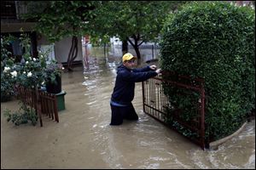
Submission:
<svg viewBox="0 0 256 170">
<path fill-rule="evenodd" d="M 9 42 L 9 38 L 3 41 Z M 1 95 L 13 95 L 14 87 L 21 85 L 26 88 L 39 88 L 44 82 L 55 82 L 56 76 L 61 76 L 62 65 L 55 59 L 48 60 L 48 51 L 39 51 L 38 58 L 31 56 L 30 38 L 26 34 L 21 34 L 20 46 L 26 48 L 26 53 L 22 55 L 20 62 L 15 63 L 11 56 L 3 55 L 3 69 L 1 67 Z M 6 48 L 2 48 L 6 50 Z"/>
</svg>

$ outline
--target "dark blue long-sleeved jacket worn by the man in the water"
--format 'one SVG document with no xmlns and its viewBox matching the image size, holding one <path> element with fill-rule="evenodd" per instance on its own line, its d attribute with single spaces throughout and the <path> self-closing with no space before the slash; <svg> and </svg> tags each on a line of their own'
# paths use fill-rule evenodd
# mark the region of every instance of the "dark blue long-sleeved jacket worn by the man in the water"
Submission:
<svg viewBox="0 0 256 170">
<path fill-rule="evenodd" d="M 130 70 L 125 65 L 119 65 L 111 100 L 119 104 L 130 104 L 134 98 L 135 82 L 143 82 L 155 76 L 157 73 L 149 66 Z"/>
</svg>

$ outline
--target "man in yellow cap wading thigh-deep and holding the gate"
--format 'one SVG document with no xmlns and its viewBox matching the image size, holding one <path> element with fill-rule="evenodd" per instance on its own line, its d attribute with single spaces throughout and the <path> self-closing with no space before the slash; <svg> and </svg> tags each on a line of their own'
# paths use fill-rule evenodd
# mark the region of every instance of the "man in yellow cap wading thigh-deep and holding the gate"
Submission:
<svg viewBox="0 0 256 170">
<path fill-rule="evenodd" d="M 137 120 L 137 113 L 131 103 L 134 98 L 135 82 L 143 82 L 160 73 L 156 65 L 147 65 L 143 68 L 135 68 L 136 57 L 130 53 L 124 54 L 122 65 L 119 65 L 117 77 L 110 100 L 111 122 L 110 125 L 120 125 L 123 119 Z"/>
</svg>

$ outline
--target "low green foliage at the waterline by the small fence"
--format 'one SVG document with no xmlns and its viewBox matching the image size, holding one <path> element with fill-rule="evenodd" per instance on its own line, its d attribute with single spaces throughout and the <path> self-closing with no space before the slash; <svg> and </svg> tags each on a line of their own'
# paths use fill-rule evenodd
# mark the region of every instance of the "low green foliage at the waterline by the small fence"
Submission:
<svg viewBox="0 0 256 170">
<path fill-rule="evenodd" d="M 23 112 L 22 112 L 23 111 Z M 22 104 L 19 111 L 11 112 L 9 109 L 3 111 L 3 116 L 7 117 L 7 122 L 13 122 L 16 126 L 31 122 L 35 126 L 38 122 L 38 115 L 33 108 Z"/>
</svg>

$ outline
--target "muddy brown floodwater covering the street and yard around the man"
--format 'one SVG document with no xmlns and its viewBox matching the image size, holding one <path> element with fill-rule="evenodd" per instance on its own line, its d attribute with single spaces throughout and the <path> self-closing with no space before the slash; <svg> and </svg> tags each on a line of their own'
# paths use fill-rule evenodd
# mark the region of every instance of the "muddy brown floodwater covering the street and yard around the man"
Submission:
<svg viewBox="0 0 256 170">
<path fill-rule="evenodd" d="M 109 126 L 119 58 L 90 55 L 87 67 L 62 74 L 67 94 L 60 122 L 44 116 L 44 127 L 15 127 L 3 110 L 16 110 L 18 102 L 1 103 L 1 168 L 255 168 L 254 120 L 218 150 L 201 150 L 143 113 L 141 82 L 132 102 L 139 120 Z"/>
</svg>

